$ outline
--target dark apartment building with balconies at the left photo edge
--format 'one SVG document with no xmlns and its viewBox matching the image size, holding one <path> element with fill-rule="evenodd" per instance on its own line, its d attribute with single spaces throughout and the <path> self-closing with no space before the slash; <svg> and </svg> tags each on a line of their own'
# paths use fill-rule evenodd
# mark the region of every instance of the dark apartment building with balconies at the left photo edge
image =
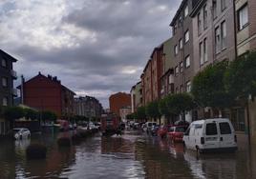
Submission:
<svg viewBox="0 0 256 179">
<path fill-rule="evenodd" d="M 13 97 L 17 96 L 17 90 L 13 89 L 13 80 L 17 79 L 16 71 L 13 70 L 12 63 L 17 60 L 10 54 L 0 50 L 0 110 L 3 107 L 11 107 L 13 105 Z M 0 135 L 4 135 L 10 129 L 9 122 L 0 116 Z"/>
</svg>

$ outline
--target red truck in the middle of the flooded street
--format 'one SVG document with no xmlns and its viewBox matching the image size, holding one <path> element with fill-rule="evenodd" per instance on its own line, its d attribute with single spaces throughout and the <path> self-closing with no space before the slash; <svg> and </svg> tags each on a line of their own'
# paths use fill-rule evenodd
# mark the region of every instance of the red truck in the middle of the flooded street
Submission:
<svg viewBox="0 0 256 179">
<path fill-rule="evenodd" d="M 120 122 L 117 115 L 107 113 L 101 115 L 101 132 L 102 135 L 120 134 Z"/>
</svg>

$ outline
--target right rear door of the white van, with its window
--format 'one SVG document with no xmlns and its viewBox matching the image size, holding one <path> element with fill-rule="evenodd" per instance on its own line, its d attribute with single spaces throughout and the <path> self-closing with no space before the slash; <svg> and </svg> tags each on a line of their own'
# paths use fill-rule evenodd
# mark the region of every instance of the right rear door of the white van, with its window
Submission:
<svg viewBox="0 0 256 179">
<path fill-rule="evenodd" d="M 230 123 L 227 121 L 218 122 L 220 129 L 220 148 L 229 148 L 234 145 L 234 133 L 232 132 Z"/>
</svg>

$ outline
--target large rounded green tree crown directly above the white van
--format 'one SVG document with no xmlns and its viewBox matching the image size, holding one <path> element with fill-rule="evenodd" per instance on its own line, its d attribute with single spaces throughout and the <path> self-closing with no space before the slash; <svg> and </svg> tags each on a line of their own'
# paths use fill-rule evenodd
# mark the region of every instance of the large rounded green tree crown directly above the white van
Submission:
<svg viewBox="0 0 256 179">
<path fill-rule="evenodd" d="M 207 66 L 193 79 L 191 93 L 201 107 L 224 108 L 232 104 L 232 98 L 224 88 L 224 73 L 228 62 Z"/>
</svg>

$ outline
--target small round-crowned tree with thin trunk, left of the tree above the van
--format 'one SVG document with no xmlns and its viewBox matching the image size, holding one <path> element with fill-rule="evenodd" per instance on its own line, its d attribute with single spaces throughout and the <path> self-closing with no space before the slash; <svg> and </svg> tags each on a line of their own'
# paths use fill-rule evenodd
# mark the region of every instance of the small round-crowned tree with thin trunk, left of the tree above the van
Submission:
<svg viewBox="0 0 256 179">
<path fill-rule="evenodd" d="M 191 94 L 183 92 L 168 96 L 166 106 L 170 113 L 182 114 L 182 120 L 184 120 L 185 111 L 194 109 L 195 103 Z"/>
</svg>

